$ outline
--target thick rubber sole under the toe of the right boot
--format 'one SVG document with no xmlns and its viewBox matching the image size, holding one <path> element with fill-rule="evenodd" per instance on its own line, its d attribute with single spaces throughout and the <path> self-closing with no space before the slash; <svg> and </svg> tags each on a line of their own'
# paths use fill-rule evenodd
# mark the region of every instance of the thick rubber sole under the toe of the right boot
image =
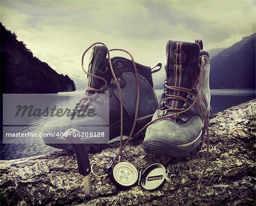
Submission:
<svg viewBox="0 0 256 206">
<path fill-rule="evenodd" d="M 188 148 L 181 148 L 180 146 L 170 144 L 161 140 L 143 141 L 143 149 L 147 153 L 168 155 L 170 157 L 191 157 L 201 150 L 203 145 L 204 131 L 199 140 L 193 143 Z"/>
</svg>

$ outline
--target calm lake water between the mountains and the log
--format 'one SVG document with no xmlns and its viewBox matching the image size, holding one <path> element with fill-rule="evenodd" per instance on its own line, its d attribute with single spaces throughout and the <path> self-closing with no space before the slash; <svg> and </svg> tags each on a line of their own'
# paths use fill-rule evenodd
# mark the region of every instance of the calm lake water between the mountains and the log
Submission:
<svg viewBox="0 0 256 206">
<path fill-rule="evenodd" d="M 226 108 L 247 102 L 255 99 L 254 90 L 211 90 L 212 100 L 211 106 L 213 113 L 223 111 Z M 49 94 L 52 105 L 58 107 L 70 107 L 74 105 L 81 98 L 82 91 L 65 92 L 59 94 Z M 158 97 L 162 94 L 162 90 L 156 90 Z M 68 107 L 68 108 L 69 108 Z M 72 108 L 72 107 L 71 107 Z M 23 132 L 40 131 L 43 125 L 49 121 L 49 117 L 43 117 L 33 122 L 32 125 L 19 128 Z M 34 155 L 46 154 L 59 151 L 59 149 L 51 148 L 44 145 L 38 138 L 28 139 L 23 144 L 1 144 L 0 145 L 0 159 L 16 159 L 23 157 L 31 157 Z"/>
</svg>

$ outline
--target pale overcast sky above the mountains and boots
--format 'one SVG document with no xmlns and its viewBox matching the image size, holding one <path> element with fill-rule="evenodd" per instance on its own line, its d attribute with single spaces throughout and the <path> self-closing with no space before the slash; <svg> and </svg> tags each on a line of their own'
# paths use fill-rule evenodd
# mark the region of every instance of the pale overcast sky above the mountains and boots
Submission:
<svg viewBox="0 0 256 206">
<path fill-rule="evenodd" d="M 1 0 L 0 21 L 57 72 L 84 79 L 81 55 L 95 41 L 147 66 L 165 64 L 168 40 L 229 47 L 255 32 L 255 1 Z"/>
</svg>

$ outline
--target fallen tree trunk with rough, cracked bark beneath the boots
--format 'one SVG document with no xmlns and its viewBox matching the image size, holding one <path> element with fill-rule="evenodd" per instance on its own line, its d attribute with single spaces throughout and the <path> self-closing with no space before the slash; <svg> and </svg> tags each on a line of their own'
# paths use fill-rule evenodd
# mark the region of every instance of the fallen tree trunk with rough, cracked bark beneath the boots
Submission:
<svg viewBox="0 0 256 206">
<path fill-rule="evenodd" d="M 250 205 L 255 202 L 256 100 L 217 113 L 210 119 L 210 158 L 201 183 L 179 205 Z M 91 163 L 108 162 L 117 149 L 90 154 Z M 162 163 L 171 182 L 156 191 L 140 186 L 122 191 L 108 176 L 92 176 L 92 199 L 85 200 L 75 155 L 55 152 L 0 161 L 2 205 L 168 205 L 195 184 L 205 162 L 205 144 L 194 157 L 175 159 L 144 153 L 128 145 L 126 161 L 145 169 Z M 99 169 L 99 172 L 102 169 Z"/>
</svg>

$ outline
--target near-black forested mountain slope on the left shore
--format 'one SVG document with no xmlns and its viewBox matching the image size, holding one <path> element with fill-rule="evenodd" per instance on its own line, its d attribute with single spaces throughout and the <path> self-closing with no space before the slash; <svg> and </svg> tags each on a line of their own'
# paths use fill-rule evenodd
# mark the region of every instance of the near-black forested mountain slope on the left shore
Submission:
<svg viewBox="0 0 256 206">
<path fill-rule="evenodd" d="M 1 23 L 0 23 L 1 24 Z M 58 74 L 34 57 L 16 35 L 1 27 L 1 89 L 3 93 L 57 93 L 75 91 L 68 75 Z"/>
</svg>

